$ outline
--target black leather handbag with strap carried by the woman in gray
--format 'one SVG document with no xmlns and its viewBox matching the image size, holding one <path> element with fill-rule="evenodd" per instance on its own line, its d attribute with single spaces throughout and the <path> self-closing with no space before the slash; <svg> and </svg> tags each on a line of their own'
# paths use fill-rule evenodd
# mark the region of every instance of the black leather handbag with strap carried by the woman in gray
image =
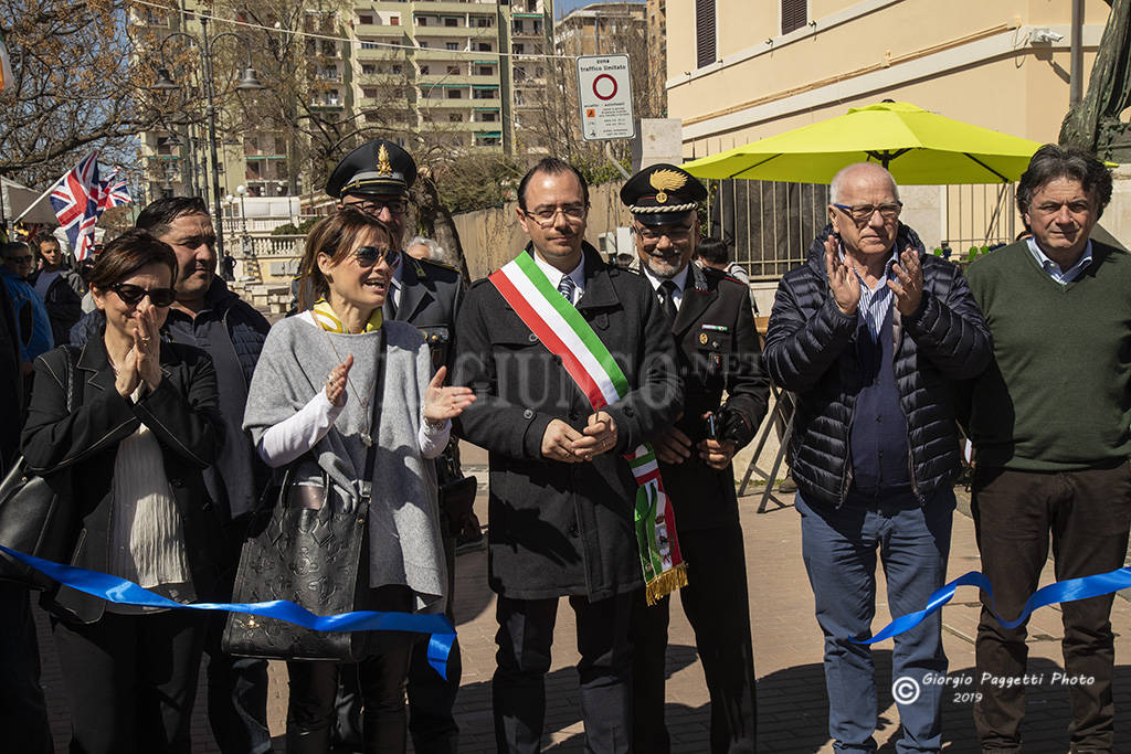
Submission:
<svg viewBox="0 0 1131 754">
<path fill-rule="evenodd" d="M 385 380 L 385 338 L 373 396 L 372 434 Z M 368 589 L 369 501 L 377 443 L 365 454 L 357 505 L 345 513 L 346 496 L 322 475 L 321 485 L 301 485 L 297 469 L 310 454 L 287 466 L 282 486 L 265 494 L 270 519 L 249 532 L 235 574 L 234 603 L 285 599 L 314 615 L 356 609 L 359 590 Z M 266 512 L 266 510 L 264 510 Z M 222 648 L 228 655 L 282 660 L 357 662 L 365 658 L 364 632 L 313 631 L 275 618 L 230 613 Z"/>
</svg>

